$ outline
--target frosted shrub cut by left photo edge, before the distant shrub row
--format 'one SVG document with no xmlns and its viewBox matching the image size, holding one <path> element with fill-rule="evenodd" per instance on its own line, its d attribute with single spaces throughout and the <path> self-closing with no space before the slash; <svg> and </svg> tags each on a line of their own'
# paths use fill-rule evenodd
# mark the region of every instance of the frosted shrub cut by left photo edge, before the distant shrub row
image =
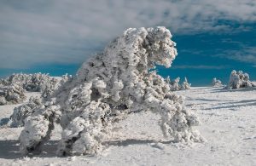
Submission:
<svg viewBox="0 0 256 166">
<path fill-rule="evenodd" d="M 0 105 L 18 104 L 26 99 L 24 89 L 20 83 L 11 83 L 0 88 Z"/>
</svg>

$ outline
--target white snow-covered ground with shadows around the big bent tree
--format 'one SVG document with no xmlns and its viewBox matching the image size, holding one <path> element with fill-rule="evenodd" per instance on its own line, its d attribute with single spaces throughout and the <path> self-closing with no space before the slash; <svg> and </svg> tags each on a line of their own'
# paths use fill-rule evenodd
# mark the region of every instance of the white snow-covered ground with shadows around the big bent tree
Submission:
<svg viewBox="0 0 256 166">
<path fill-rule="evenodd" d="M 158 115 L 140 112 L 116 124 L 117 134 L 96 156 L 56 156 L 61 129 L 55 129 L 42 154 L 21 157 L 22 128 L 4 125 L 18 105 L 0 106 L 0 165 L 256 165 L 256 88 L 200 87 L 175 93 L 186 96 L 186 106 L 201 118 L 196 128 L 205 143 L 184 146 L 164 140 Z"/>
</svg>

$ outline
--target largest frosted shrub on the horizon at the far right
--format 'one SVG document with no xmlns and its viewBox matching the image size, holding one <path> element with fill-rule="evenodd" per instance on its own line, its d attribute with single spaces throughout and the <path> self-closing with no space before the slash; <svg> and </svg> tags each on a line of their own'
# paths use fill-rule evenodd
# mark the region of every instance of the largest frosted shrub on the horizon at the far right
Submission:
<svg viewBox="0 0 256 166">
<path fill-rule="evenodd" d="M 242 71 L 236 72 L 233 70 L 230 73 L 230 82 L 228 85 L 229 89 L 241 89 L 248 87 L 256 87 L 256 84 L 249 80 L 249 75 L 247 73 L 243 73 Z"/>
</svg>

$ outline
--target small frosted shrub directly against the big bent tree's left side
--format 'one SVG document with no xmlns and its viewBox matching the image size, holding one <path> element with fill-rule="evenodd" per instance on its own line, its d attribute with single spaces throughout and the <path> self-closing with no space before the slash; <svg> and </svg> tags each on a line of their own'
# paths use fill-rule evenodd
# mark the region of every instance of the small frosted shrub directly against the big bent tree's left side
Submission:
<svg viewBox="0 0 256 166">
<path fill-rule="evenodd" d="M 10 119 L 12 120 L 12 126 L 23 126 L 25 118 L 30 116 L 32 112 L 42 106 L 41 100 L 37 97 L 31 97 L 29 102 L 21 106 L 15 107 Z"/>
</svg>

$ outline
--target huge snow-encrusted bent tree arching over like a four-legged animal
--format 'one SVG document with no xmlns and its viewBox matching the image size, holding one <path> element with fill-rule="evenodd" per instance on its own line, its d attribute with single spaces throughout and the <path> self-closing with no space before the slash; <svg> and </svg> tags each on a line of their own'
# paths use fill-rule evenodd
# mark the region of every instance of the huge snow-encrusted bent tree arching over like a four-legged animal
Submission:
<svg viewBox="0 0 256 166">
<path fill-rule="evenodd" d="M 160 114 L 163 134 L 174 141 L 202 141 L 192 129 L 199 121 L 183 106 L 184 97 L 173 94 L 166 80 L 152 71 L 155 65 L 170 67 L 177 56 L 171 37 L 161 26 L 124 31 L 26 118 L 20 152 L 40 152 L 54 123 L 61 123 L 59 154 L 95 154 L 111 137 L 112 123 L 140 111 Z"/>
</svg>

